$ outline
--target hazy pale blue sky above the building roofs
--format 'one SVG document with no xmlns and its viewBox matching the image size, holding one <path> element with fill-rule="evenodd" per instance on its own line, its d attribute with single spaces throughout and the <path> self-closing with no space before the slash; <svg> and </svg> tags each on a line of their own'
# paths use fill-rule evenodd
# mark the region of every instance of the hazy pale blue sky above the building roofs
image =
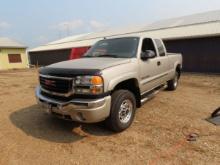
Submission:
<svg viewBox="0 0 220 165">
<path fill-rule="evenodd" d="M 211 10 L 219 0 L 0 0 L 0 37 L 33 48 L 70 35 Z"/>
</svg>

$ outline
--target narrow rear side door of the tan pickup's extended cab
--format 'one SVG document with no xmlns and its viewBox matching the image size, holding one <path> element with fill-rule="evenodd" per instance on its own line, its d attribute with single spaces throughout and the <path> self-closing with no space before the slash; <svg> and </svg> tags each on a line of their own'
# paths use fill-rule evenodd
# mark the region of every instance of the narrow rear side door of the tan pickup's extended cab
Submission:
<svg viewBox="0 0 220 165">
<path fill-rule="evenodd" d="M 157 62 L 159 65 L 157 69 L 159 71 L 160 83 L 164 83 L 169 77 L 169 58 L 163 41 L 160 39 L 154 39 L 154 43 L 158 53 Z"/>
</svg>

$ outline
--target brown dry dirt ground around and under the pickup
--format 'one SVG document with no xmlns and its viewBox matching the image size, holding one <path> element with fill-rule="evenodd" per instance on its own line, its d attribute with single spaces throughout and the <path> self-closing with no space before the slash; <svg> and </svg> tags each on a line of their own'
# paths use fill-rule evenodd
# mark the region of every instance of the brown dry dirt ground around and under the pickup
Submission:
<svg viewBox="0 0 220 165">
<path fill-rule="evenodd" d="M 37 81 L 35 70 L 0 72 L 1 165 L 220 164 L 220 126 L 205 120 L 220 106 L 220 76 L 184 74 L 177 91 L 148 101 L 120 134 L 45 114 Z"/>
</svg>

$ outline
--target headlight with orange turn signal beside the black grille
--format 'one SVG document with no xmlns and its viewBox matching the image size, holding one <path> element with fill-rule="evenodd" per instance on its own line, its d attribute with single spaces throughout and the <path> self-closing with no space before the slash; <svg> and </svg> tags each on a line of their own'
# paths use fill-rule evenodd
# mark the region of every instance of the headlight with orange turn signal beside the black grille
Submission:
<svg viewBox="0 0 220 165">
<path fill-rule="evenodd" d="M 73 81 L 73 90 L 76 94 L 103 93 L 103 79 L 101 76 L 77 76 Z"/>
</svg>

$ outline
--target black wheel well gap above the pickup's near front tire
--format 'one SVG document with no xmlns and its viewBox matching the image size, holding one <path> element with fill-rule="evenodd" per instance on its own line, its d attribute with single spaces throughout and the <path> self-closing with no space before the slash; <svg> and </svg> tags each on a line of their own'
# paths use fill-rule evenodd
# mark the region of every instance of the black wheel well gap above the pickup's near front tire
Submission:
<svg viewBox="0 0 220 165">
<path fill-rule="evenodd" d="M 141 96 L 140 96 L 140 89 L 139 89 L 137 79 L 133 78 L 133 79 L 125 80 L 119 83 L 118 85 L 115 86 L 112 93 L 119 89 L 125 89 L 125 90 L 129 90 L 130 92 L 132 92 L 135 96 L 137 107 L 138 108 L 141 107 Z"/>
</svg>

